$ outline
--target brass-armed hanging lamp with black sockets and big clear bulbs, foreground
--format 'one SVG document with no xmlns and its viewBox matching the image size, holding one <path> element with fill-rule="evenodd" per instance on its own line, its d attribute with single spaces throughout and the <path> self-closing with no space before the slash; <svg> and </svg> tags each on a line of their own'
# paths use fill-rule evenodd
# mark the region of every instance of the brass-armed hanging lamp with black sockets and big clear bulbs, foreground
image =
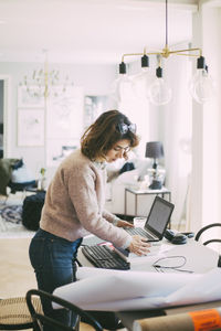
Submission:
<svg viewBox="0 0 221 331">
<path fill-rule="evenodd" d="M 164 79 L 162 58 L 168 58 L 170 55 L 185 55 L 197 57 L 197 73 L 190 81 L 189 89 L 192 98 L 199 104 L 208 102 L 213 94 L 213 82 L 208 72 L 206 58 L 202 56 L 201 49 L 187 49 L 171 51 L 168 45 L 168 1 L 166 0 L 166 41 L 165 47 L 159 52 L 147 52 L 146 47 L 143 53 L 129 53 L 122 56 L 119 64 L 119 76 L 114 82 L 114 94 L 117 100 L 122 100 L 123 95 L 133 95 L 135 84 L 143 82 L 145 85 L 146 97 L 154 105 L 166 105 L 171 100 L 171 88 Z M 157 57 L 156 74 L 152 75 L 149 71 L 149 55 Z M 133 78 L 127 75 L 125 57 L 141 56 L 141 73 Z"/>
</svg>

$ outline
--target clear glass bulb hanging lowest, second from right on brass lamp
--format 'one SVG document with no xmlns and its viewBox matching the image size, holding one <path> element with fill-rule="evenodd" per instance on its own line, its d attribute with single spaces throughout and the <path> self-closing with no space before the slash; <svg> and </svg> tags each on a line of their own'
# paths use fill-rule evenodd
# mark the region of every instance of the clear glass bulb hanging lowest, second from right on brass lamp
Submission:
<svg viewBox="0 0 221 331">
<path fill-rule="evenodd" d="M 149 87 L 149 99 L 154 105 L 166 105 L 171 100 L 171 88 L 167 86 L 164 78 L 156 78 Z"/>
</svg>

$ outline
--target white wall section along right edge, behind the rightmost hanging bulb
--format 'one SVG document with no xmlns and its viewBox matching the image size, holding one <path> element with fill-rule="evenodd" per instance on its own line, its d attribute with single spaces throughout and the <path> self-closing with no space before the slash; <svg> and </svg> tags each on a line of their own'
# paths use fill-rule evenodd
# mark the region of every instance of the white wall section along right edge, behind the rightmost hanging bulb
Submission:
<svg viewBox="0 0 221 331">
<path fill-rule="evenodd" d="M 193 103 L 192 113 L 192 190 L 191 228 L 221 222 L 221 8 L 215 1 L 200 1 L 194 18 L 194 38 L 200 43 L 209 71 L 217 84 L 217 93 L 204 106 Z"/>
</svg>

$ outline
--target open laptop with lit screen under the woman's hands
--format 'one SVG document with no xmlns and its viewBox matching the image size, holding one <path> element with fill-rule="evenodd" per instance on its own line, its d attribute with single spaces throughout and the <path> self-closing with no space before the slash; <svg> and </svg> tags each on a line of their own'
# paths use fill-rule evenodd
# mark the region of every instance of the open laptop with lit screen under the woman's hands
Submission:
<svg viewBox="0 0 221 331">
<path fill-rule="evenodd" d="M 125 231 L 133 236 L 146 237 L 147 242 L 159 242 L 165 235 L 173 207 L 171 202 L 156 195 L 144 228 L 127 227 Z"/>
</svg>

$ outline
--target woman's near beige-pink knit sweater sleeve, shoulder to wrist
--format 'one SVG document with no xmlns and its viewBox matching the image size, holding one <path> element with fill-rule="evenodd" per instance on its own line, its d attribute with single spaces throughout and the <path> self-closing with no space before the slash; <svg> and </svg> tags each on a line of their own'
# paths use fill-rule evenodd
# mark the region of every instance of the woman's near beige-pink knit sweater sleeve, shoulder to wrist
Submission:
<svg viewBox="0 0 221 331">
<path fill-rule="evenodd" d="M 96 171 L 88 164 L 81 164 L 72 169 L 67 179 L 69 195 L 83 227 L 104 241 L 124 246 L 129 235 L 104 217 L 105 212 L 103 214 L 99 201 L 104 199 L 105 190 L 102 188 L 103 182 Z M 108 215 L 107 217 L 112 218 L 112 214 Z M 114 215 L 112 221 L 114 221 Z"/>
</svg>

